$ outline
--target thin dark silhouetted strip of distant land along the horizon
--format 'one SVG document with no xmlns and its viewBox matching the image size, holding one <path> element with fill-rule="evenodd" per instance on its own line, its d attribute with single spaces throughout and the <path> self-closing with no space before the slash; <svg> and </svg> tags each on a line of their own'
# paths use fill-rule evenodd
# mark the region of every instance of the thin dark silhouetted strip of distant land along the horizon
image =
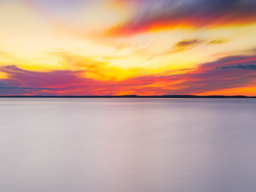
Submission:
<svg viewBox="0 0 256 192">
<path fill-rule="evenodd" d="M 2 95 L 0 98 L 256 98 L 248 97 L 243 95 L 233 95 L 233 96 L 225 96 L 225 95 L 208 95 L 208 96 L 197 96 L 197 95 L 150 95 L 150 96 L 142 96 L 142 95 L 73 95 L 73 96 L 44 96 L 44 95 L 34 95 L 34 96 L 25 96 L 25 95 Z"/>
</svg>

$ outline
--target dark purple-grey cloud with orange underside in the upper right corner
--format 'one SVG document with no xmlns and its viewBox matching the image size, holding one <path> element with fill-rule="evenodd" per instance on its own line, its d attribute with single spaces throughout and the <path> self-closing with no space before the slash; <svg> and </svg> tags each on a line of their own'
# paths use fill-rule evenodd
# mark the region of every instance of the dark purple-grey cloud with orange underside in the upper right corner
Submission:
<svg viewBox="0 0 256 192">
<path fill-rule="evenodd" d="M 211 27 L 256 22 L 256 0 L 148 0 L 132 19 L 108 31 L 130 36 L 176 26 Z"/>
</svg>

